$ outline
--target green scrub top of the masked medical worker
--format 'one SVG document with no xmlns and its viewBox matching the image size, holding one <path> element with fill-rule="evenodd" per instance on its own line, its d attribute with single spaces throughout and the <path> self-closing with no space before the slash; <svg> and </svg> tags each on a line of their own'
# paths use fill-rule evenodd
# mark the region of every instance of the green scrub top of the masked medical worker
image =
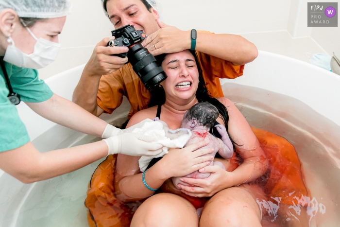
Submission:
<svg viewBox="0 0 340 227">
<path fill-rule="evenodd" d="M 20 95 L 21 101 L 40 103 L 52 97 L 53 92 L 38 78 L 37 70 L 4 63 L 13 91 Z M 30 138 L 19 118 L 16 106 L 7 98 L 9 90 L 1 68 L 0 74 L 0 152 L 2 152 L 18 148 L 28 143 Z"/>
</svg>

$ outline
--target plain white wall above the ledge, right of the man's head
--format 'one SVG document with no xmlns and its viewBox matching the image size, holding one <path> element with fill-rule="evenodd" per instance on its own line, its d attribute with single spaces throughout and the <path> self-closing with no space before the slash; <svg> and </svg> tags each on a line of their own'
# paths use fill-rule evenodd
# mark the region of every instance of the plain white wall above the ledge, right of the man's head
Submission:
<svg viewBox="0 0 340 227">
<path fill-rule="evenodd" d="M 158 0 L 164 22 L 215 33 L 286 30 L 290 0 Z"/>
</svg>

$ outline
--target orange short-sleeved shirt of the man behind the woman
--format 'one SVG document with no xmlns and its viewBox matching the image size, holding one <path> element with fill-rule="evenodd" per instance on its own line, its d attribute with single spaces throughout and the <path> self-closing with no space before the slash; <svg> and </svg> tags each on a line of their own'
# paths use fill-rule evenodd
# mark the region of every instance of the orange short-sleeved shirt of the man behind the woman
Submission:
<svg viewBox="0 0 340 227">
<path fill-rule="evenodd" d="M 243 75 L 244 65 L 234 66 L 229 61 L 202 52 L 197 52 L 197 57 L 206 87 L 213 97 L 224 97 L 219 78 L 234 79 Z M 105 113 L 111 114 L 121 105 L 123 96 L 126 96 L 131 104 L 129 119 L 137 111 L 146 109 L 151 98 L 150 92 L 144 87 L 130 63 L 102 76 L 97 103 Z"/>
</svg>

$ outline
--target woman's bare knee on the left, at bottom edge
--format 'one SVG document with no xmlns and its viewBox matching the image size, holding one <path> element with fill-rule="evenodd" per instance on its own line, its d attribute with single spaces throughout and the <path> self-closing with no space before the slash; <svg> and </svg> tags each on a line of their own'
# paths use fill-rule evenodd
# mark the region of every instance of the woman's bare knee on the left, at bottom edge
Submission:
<svg viewBox="0 0 340 227">
<path fill-rule="evenodd" d="M 196 209 L 186 199 L 160 193 L 148 198 L 137 210 L 131 227 L 198 227 Z"/>
</svg>

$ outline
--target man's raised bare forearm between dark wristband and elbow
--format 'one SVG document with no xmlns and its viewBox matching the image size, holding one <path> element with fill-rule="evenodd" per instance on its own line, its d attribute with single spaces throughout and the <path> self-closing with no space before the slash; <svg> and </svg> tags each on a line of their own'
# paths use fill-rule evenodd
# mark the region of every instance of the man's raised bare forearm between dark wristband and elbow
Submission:
<svg viewBox="0 0 340 227">
<path fill-rule="evenodd" d="M 257 57 L 256 46 L 240 35 L 197 33 L 196 50 L 244 65 Z"/>
</svg>

